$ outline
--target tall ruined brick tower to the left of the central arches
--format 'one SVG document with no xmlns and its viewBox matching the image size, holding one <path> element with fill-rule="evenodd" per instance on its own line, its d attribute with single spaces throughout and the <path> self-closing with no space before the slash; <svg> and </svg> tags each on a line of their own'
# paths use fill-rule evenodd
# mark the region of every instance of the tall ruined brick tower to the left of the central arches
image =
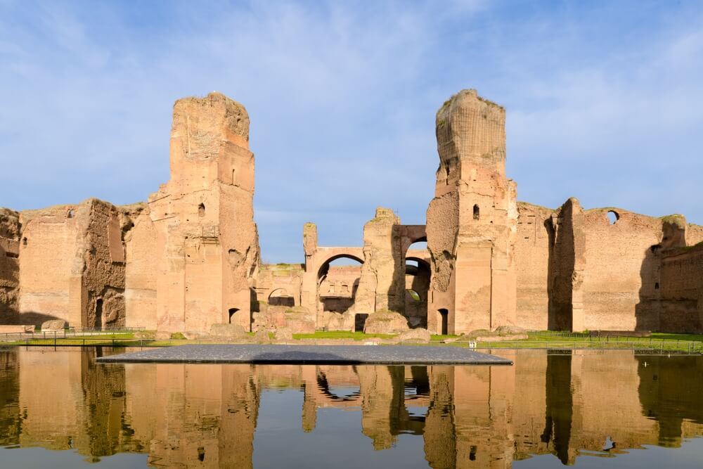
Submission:
<svg viewBox="0 0 703 469">
<path fill-rule="evenodd" d="M 243 105 L 219 93 L 174 105 L 171 179 L 149 199 L 157 233 L 159 330 L 249 328 L 259 265 L 254 155 Z"/>
</svg>

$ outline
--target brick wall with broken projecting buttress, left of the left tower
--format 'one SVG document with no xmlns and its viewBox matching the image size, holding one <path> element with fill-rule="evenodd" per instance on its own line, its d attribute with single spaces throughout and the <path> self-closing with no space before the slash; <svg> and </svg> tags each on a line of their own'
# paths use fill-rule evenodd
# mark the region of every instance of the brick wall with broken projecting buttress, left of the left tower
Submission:
<svg viewBox="0 0 703 469">
<path fill-rule="evenodd" d="M 124 250 L 115 206 L 89 199 L 27 210 L 20 224 L 19 323 L 124 326 Z"/>
</svg>

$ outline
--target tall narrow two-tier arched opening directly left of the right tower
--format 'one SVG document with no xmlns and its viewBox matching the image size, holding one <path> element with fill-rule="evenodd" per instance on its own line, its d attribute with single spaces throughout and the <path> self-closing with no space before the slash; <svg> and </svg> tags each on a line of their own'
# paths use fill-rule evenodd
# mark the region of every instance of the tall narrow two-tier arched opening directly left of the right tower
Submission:
<svg viewBox="0 0 703 469">
<path fill-rule="evenodd" d="M 405 315 L 411 328 L 427 328 L 430 254 L 427 238 L 419 238 L 405 253 Z"/>
</svg>

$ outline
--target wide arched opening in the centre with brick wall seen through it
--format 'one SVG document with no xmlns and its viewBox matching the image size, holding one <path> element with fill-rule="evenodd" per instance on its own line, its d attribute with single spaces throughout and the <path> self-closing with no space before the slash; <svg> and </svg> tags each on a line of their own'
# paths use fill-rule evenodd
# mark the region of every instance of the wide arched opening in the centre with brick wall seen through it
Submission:
<svg viewBox="0 0 703 469">
<path fill-rule="evenodd" d="M 342 314 L 354 304 L 363 260 L 354 255 L 337 255 L 318 271 L 318 301 L 321 311 Z M 362 326 L 363 327 L 363 326 Z"/>
</svg>

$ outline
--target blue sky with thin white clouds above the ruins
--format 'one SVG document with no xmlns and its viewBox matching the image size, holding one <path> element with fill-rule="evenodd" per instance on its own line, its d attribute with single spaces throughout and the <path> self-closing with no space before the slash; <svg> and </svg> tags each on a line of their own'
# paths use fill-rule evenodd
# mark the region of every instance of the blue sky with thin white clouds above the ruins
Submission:
<svg viewBox="0 0 703 469">
<path fill-rule="evenodd" d="M 305 221 L 424 223 L 434 114 L 475 88 L 519 200 L 703 224 L 702 77 L 700 1 L 0 0 L 0 206 L 146 200 L 173 101 L 217 90 L 252 120 L 264 260 L 300 262 Z"/>
</svg>

